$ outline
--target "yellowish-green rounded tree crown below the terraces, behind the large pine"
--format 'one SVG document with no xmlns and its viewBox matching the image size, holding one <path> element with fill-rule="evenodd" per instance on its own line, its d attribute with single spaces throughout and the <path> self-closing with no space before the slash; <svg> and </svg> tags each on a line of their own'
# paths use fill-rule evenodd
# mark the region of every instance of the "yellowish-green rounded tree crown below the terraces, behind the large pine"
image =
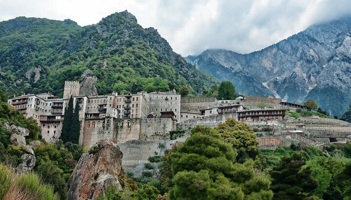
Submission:
<svg viewBox="0 0 351 200">
<path fill-rule="evenodd" d="M 243 163 L 246 158 L 255 158 L 259 153 L 258 141 L 254 130 L 243 122 L 228 118 L 225 123 L 218 124 L 215 130 L 223 140 L 233 145 L 238 152 L 238 161 Z"/>
</svg>

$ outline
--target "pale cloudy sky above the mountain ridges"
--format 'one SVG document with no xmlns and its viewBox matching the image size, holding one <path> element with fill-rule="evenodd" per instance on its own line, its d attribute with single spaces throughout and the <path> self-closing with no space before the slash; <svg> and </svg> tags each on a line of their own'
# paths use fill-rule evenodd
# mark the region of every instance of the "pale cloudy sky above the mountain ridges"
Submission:
<svg viewBox="0 0 351 200">
<path fill-rule="evenodd" d="M 70 18 L 85 26 L 124 10 L 183 56 L 218 48 L 247 54 L 351 15 L 351 0 L 0 0 L 0 21 Z"/>
</svg>

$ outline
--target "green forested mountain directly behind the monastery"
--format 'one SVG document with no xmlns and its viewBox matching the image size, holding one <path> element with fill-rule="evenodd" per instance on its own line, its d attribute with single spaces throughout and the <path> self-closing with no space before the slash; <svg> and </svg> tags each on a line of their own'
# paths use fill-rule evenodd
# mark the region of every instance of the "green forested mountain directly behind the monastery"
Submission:
<svg viewBox="0 0 351 200">
<path fill-rule="evenodd" d="M 193 93 L 216 83 L 173 52 L 154 28 L 142 28 L 127 11 L 98 24 L 18 17 L 0 22 L 0 89 L 63 94 L 65 80 L 87 71 L 98 93 L 168 91 L 187 85 Z"/>
</svg>

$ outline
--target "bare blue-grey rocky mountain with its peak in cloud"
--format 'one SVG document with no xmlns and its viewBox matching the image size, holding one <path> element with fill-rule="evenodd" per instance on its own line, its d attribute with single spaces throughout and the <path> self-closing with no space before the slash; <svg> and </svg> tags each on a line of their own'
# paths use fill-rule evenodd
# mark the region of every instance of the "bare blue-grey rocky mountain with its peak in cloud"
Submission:
<svg viewBox="0 0 351 200">
<path fill-rule="evenodd" d="M 215 49 L 186 60 L 233 82 L 241 94 L 289 102 L 314 99 L 340 117 L 351 101 L 351 17 L 312 25 L 250 54 Z"/>
</svg>

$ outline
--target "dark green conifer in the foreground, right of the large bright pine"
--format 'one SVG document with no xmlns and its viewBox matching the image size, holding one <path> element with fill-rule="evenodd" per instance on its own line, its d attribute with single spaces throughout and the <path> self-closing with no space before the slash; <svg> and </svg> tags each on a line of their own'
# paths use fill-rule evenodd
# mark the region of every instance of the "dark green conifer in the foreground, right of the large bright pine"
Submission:
<svg viewBox="0 0 351 200">
<path fill-rule="evenodd" d="M 300 153 L 284 156 L 271 172 L 274 199 L 302 200 L 309 196 L 318 181 L 311 176 L 312 170 L 305 165 Z"/>
</svg>

